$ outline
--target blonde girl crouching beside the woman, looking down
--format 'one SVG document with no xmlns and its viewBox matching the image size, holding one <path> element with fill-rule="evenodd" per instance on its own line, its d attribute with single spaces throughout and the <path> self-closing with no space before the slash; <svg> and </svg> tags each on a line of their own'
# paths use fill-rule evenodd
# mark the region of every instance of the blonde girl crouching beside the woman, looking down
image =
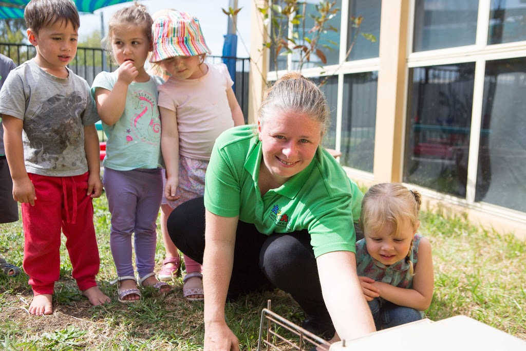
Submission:
<svg viewBox="0 0 526 351">
<path fill-rule="evenodd" d="M 416 234 L 420 205 L 420 193 L 399 183 L 373 185 L 363 196 L 356 270 L 377 330 L 420 320 L 431 304 L 431 244 Z"/>
</svg>

